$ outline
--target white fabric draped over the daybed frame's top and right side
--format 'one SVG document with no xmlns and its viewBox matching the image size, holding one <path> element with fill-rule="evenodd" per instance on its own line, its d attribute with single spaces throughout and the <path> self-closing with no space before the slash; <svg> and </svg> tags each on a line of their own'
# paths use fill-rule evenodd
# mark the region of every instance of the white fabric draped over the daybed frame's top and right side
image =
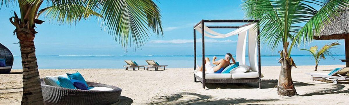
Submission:
<svg viewBox="0 0 349 105">
<path fill-rule="evenodd" d="M 246 52 L 246 39 L 248 37 L 248 60 L 250 61 L 250 66 L 252 71 L 258 71 L 258 64 L 257 64 L 257 29 L 255 27 L 257 23 L 253 23 L 251 25 L 247 25 L 244 27 L 239 27 L 238 29 L 231 31 L 226 34 L 215 32 L 211 29 L 209 29 L 206 25 L 204 25 L 205 30 L 205 36 L 209 38 L 226 38 L 233 35 L 239 34 L 237 47 L 236 47 L 236 61 L 240 64 L 245 64 L 245 52 Z M 195 30 L 202 33 L 201 30 L 201 24 L 194 27 Z M 246 37 L 248 32 L 248 36 Z"/>
</svg>

